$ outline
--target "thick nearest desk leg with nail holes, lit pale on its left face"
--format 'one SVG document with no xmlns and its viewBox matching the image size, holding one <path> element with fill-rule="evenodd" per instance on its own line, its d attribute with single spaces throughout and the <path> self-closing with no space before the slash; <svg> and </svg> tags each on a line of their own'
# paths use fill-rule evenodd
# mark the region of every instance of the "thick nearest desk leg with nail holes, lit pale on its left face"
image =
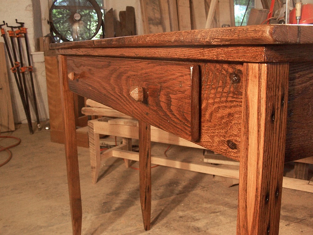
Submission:
<svg viewBox="0 0 313 235">
<path fill-rule="evenodd" d="M 288 100 L 286 63 L 244 64 L 237 234 L 278 234 Z"/>
</svg>

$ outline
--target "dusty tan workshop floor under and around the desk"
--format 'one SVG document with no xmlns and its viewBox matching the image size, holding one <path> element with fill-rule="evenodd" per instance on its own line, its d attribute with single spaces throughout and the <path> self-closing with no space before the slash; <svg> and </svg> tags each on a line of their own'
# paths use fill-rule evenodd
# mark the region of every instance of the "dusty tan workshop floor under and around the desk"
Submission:
<svg viewBox="0 0 313 235">
<path fill-rule="evenodd" d="M 49 131 L 13 133 L 22 139 L 12 160 L 0 168 L 0 234 L 71 234 L 64 146 Z M 0 145 L 8 145 L 0 139 Z M 154 152 L 167 146 L 154 145 Z M 89 151 L 79 148 L 83 206 L 82 234 L 235 234 L 238 185 L 228 188 L 212 175 L 167 167 L 152 169 L 152 227 L 143 230 L 138 170 L 107 159 L 91 183 Z M 202 150 L 171 147 L 168 155 Z M 0 153 L 0 163 L 7 158 Z M 134 166 L 136 166 L 135 163 Z M 279 234 L 313 234 L 313 195 L 283 189 Z"/>
</svg>

